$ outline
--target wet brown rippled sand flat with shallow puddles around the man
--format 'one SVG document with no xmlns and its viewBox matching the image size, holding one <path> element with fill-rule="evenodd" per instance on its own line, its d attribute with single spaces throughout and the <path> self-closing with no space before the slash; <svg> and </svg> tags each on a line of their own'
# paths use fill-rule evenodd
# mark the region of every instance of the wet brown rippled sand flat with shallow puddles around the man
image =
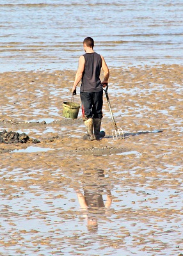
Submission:
<svg viewBox="0 0 183 256">
<path fill-rule="evenodd" d="M 2 255 L 96 255 L 94 249 L 100 255 L 119 255 L 115 253 L 122 250 L 124 255 L 179 255 L 183 250 L 182 66 L 111 69 L 109 99 L 124 140 L 112 138 L 105 95 L 106 137 L 100 141 L 82 140 L 81 111 L 76 120 L 62 116 L 74 76 L 72 70 L 1 74 L 0 131 L 26 132 L 40 140 L 36 145 L 0 145 Z M 75 102 L 80 103 L 79 89 Z M 113 211 L 100 218 L 104 230 L 91 236 L 83 230 L 84 224 L 79 225 L 83 217 L 74 191 L 86 179 L 84 170 L 96 168 L 107 177 Z M 69 199 L 68 188 L 73 193 Z M 39 196 L 40 205 L 52 204 L 56 198 L 59 204 L 50 211 L 29 207 Z M 22 221 L 34 218 L 51 230 L 20 227 Z M 75 221 L 77 230 L 63 230 L 67 221 Z"/>
</svg>

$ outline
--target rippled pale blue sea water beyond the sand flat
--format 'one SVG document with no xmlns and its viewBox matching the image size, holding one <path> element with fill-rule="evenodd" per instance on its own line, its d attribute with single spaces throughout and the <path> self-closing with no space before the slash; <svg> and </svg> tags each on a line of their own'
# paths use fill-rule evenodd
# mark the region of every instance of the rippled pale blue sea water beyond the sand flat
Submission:
<svg viewBox="0 0 183 256">
<path fill-rule="evenodd" d="M 2 0 L 0 71 L 76 70 L 86 36 L 109 66 L 179 64 L 182 13 L 182 0 Z"/>
</svg>

